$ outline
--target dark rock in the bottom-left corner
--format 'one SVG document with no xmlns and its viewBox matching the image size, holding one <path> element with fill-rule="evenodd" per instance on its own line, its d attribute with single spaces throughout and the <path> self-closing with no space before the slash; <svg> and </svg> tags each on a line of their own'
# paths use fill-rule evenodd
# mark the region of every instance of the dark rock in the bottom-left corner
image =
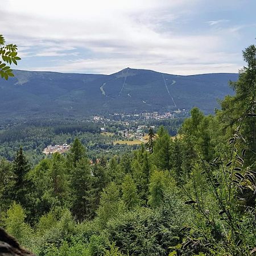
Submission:
<svg viewBox="0 0 256 256">
<path fill-rule="evenodd" d="M 0 256 L 35 256 L 22 248 L 19 243 L 0 228 Z"/>
</svg>

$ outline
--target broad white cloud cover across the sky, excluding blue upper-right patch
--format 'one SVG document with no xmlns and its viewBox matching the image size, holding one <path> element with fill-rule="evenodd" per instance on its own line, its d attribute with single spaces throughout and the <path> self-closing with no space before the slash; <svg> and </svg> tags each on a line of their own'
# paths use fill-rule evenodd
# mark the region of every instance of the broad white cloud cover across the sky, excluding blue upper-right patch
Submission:
<svg viewBox="0 0 256 256">
<path fill-rule="evenodd" d="M 225 38 L 220 31 L 191 35 L 168 30 L 168 24 L 179 24 L 197 2 L 202 0 L 7 0 L 0 11 L 1 34 L 18 44 L 24 58 L 20 66 L 32 70 L 113 73 L 129 66 L 180 74 L 209 72 L 210 67 L 212 72 L 236 72 L 232 61 L 236 63 L 237 55 L 222 52 Z M 46 56 L 59 65 L 25 64 Z"/>
</svg>

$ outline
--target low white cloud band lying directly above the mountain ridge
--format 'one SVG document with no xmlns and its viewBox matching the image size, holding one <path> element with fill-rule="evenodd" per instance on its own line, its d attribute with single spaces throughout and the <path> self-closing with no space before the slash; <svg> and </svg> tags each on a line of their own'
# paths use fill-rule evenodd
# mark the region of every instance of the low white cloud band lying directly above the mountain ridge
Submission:
<svg viewBox="0 0 256 256">
<path fill-rule="evenodd" d="M 174 75 L 192 75 L 197 73 L 216 73 L 216 72 L 234 72 L 240 68 L 239 65 L 232 62 L 228 63 L 226 60 L 233 60 L 236 55 L 226 55 L 219 52 L 204 56 L 203 59 L 191 58 L 187 60 L 185 56 L 180 57 L 176 61 L 176 56 L 161 56 L 155 59 L 144 57 L 139 59 L 137 56 L 125 56 L 116 58 L 94 58 L 94 59 L 76 59 L 76 60 L 62 60 L 52 67 L 40 67 L 31 70 L 37 71 L 56 71 L 56 72 L 74 72 L 74 73 L 104 73 L 110 75 L 121 69 L 130 67 L 138 69 L 152 69 L 154 71 L 170 73 Z M 214 64 L 218 60 L 220 63 Z"/>
</svg>

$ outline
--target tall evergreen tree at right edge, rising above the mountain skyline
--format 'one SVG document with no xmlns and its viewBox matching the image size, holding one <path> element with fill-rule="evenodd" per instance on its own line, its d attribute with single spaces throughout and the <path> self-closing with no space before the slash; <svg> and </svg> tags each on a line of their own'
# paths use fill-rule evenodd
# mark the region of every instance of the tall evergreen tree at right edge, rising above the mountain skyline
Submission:
<svg viewBox="0 0 256 256">
<path fill-rule="evenodd" d="M 246 159 L 253 162 L 256 153 L 256 118 L 254 116 L 256 109 L 256 46 L 251 45 L 243 51 L 243 60 L 247 67 L 243 67 L 239 73 L 238 81 L 230 82 L 230 86 L 236 92 L 235 96 L 227 96 L 221 102 L 222 111 L 218 116 L 225 128 L 236 129 L 241 123 L 240 133 L 243 133 L 247 146 Z M 245 115 L 249 118 L 244 118 Z M 234 126 L 234 127 L 233 127 Z M 226 129 L 228 131 L 228 129 Z M 230 134 L 229 134 L 230 135 Z"/>
</svg>

